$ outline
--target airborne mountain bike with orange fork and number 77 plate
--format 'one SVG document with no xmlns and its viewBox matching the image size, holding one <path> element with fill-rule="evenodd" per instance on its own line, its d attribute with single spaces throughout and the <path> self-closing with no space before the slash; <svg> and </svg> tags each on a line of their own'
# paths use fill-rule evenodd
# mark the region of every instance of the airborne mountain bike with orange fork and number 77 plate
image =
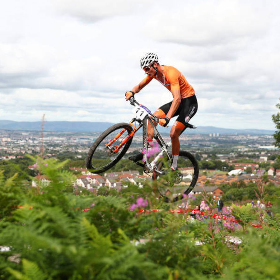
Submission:
<svg viewBox="0 0 280 280">
<path fill-rule="evenodd" d="M 134 107 L 135 117 L 129 123 L 114 124 L 106 129 L 93 143 L 86 157 L 86 168 L 91 173 L 99 174 L 114 166 L 127 152 L 134 134 L 142 128 L 143 150 L 130 160 L 143 167 L 144 173 L 152 179 L 158 179 L 157 189 L 166 202 L 175 202 L 184 198 L 194 188 L 198 179 L 198 163 L 195 157 L 187 152 L 179 152 L 177 170 L 170 169 L 171 155 L 168 149 L 171 142 L 165 143 L 156 129 L 159 118 L 133 97 L 129 99 Z M 153 147 L 147 142 L 147 124 L 153 128 L 156 142 Z M 187 124 L 188 128 L 196 128 Z"/>
</svg>

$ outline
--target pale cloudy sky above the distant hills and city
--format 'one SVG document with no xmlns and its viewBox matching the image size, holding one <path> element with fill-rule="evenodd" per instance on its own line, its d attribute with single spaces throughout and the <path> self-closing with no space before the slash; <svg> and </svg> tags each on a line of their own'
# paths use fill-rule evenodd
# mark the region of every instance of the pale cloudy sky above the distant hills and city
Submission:
<svg viewBox="0 0 280 280">
<path fill-rule="evenodd" d="M 278 0 L 1 2 L 0 120 L 129 122 L 125 91 L 155 52 L 194 87 L 190 123 L 275 130 Z M 156 80 L 135 97 L 152 111 L 172 101 Z"/>
</svg>

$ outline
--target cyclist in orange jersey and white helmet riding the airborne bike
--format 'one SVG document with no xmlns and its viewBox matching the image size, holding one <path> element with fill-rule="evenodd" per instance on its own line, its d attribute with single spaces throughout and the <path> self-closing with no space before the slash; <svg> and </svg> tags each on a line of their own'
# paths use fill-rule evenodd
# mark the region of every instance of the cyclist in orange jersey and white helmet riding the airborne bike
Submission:
<svg viewBox="0 0 280 280">
<path fill-rule="evenodd" d="M 186 124 L 194 116 L 198 108 L 194 88 L 176 68 L 160 65 L 158 56 L 155 53 L 145 54 L 140 60 L 140 67 L 145 71 L 147 76 L 137 86 L 134 86 L 131 91 L 125 93 L 126 100 L 139 92 L 152 79 L 159 81 L 172 93 L 173 100 L 162 105 L 154 114 L 159 118 L 158 123 L 164 127 L 166 127 L 172 117 L 178 116 L 170 131 L 172 142 L 172 161 L 170 168 L 176 170 L 180 150 L 179 136 L 183 133 Z M 151 142 L 152 139 L 152 125 L 148 123 L 147 141 Z"/>
</svg>

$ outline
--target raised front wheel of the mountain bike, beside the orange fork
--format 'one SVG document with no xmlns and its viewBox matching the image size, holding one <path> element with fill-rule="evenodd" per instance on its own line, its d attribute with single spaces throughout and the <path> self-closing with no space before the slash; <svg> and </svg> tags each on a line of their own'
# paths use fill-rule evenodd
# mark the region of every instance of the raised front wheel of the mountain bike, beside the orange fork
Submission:
<svg viewBox="0 0 280 280">
<path fill-rule="evenodd" d="M 126 153 L 132 137 L 118 152 L 116 148 L 132 132 L 132 127 L 127 123 L 119 123 L 106 129 L 93 143 L 86 157 L 86 168 L 91 173 L 102 173 L 114 166 Z"/>
</svg>

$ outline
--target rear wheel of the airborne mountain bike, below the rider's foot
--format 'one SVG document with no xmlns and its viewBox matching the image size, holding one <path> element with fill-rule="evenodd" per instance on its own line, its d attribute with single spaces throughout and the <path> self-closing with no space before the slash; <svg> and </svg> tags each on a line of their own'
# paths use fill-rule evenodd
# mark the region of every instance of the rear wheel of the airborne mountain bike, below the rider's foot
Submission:
<svg viewBox="0 0 280 280">
<path fill-rule="evenodd" d="M 198 163 L 195 157 L 186 151 L 179 152 L 178 170 L 172 171 L 169 160 L 163 158 L 158 169 L 164 171 L 157 180 L 157 189 L 166 202 L 178 201 L 188 195 L 198 179 Z"/>
</svg>

